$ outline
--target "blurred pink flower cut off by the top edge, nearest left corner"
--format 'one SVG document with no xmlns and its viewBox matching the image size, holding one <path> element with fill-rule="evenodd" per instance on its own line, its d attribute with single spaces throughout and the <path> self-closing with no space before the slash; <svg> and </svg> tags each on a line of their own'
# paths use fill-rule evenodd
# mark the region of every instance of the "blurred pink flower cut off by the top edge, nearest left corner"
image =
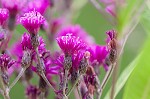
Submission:
<svg viewBox="0 0 150 99">
<path fill-rule="evenodd" d="M 10 15 L 16 16 L 16 14 L 22 10 L 27 0 L 1 0 L 2 6 L 7 8 Z"/>
</svg>

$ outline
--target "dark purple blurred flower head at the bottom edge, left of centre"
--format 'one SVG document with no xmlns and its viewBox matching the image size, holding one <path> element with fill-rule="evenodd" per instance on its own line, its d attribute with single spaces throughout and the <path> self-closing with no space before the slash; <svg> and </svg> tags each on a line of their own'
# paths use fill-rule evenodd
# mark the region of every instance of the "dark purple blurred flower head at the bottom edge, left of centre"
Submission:
<svg viewBox="0 0 150 99">
<path fill-rule="evenodd" d="M 40 94 L 40 90 L 36 86 L 29 85 L 26 88 L 26 95 L 29 99 L 37 99 L 39 94 Z"/>
</svg>

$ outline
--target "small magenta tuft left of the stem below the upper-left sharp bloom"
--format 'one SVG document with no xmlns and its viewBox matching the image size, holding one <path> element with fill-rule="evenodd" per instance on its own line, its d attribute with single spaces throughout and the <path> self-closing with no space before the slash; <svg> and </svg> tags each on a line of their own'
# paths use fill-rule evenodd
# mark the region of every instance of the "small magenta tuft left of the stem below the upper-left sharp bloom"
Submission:
<svg viewBox="0 0 150 99">
<path fill-rule="evenodd" d="M 32 44 L 31 44 L 30 34 L 28 34 L 28 33 L 23 34 L 21 44 L 22 44 L 23 50 L 32 50 L 33 49 Z"/>
</svg>

